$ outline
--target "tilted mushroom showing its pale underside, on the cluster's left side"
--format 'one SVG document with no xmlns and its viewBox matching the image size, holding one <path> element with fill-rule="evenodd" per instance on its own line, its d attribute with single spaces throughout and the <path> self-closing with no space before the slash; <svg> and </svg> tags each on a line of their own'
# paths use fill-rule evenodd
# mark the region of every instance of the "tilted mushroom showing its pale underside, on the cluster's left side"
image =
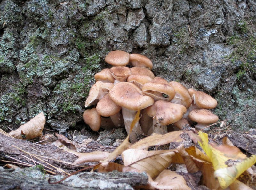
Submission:
<svg viewBox="0 0 256 190">
<path fill-rule="evenodd" d="M 97 81 L 92 85 L 84 106 L 88 107 L 97 104 L 97 102 L 102 99 L 113 86 L 113 83 L 103 83 L 102 81 Z"/>
</svg>

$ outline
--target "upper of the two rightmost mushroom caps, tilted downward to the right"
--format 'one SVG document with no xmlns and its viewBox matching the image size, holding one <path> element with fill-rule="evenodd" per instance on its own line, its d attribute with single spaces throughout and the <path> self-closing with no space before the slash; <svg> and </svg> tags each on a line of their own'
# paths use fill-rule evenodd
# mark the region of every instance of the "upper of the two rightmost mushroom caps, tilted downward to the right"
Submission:
<svg viewBox="0 0 256 190">
<path fill-rule="evenodd" d="M 199 108 L 213 109 L 217 106 L 216 99 L 204 92 L 196 91 L 193 88 L 189 88 L 188 92 L 194 101 L 194 104 L 196 104 Z"/>
</svg>

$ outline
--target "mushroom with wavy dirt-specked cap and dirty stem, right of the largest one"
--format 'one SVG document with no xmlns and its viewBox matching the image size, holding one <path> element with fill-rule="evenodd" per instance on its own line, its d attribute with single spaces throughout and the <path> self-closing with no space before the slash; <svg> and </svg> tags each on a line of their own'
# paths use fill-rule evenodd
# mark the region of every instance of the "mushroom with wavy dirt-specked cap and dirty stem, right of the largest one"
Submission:
<svg viewBox="0 0 256 190">
<path fill-rule="evenodd" d="M 156 101 L 152 106 L 147 107 L 147 114 L 153 117 L 152 128 L 148 134 L 154 132 L 158 134 L 167 133 L 169 124 L 179 121 L 183 114 L 186 113 L 186 107 L 181 104 L 174 104 L 164 100 Z"/>
</svg>

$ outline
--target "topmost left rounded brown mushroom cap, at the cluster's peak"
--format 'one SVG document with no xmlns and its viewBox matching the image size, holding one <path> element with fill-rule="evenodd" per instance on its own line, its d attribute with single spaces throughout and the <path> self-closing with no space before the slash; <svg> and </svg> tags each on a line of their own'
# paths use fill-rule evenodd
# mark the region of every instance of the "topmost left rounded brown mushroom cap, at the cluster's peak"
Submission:
<svg viewBox="0 0 256 190">
<path fill-rule="evenodd" d="M 125 66 L 129 60 L 130 54 L 122 50 L 111 51 L 105 57 L 105 62 L 113 66 Z"/>
</svg>

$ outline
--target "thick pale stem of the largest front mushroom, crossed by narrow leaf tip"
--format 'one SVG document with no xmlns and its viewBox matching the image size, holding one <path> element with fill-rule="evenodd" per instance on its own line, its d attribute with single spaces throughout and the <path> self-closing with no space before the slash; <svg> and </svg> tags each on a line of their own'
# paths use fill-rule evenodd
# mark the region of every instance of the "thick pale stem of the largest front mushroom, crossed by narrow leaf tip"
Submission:
<svg viewBox="0 0 256 190">
<path fill-rule="evenodd" d="M 123 113 L 123 118 L 124 118 L 125 130 L 126 130 L 127 134 L 129 134 L 129 131 L 131 128 L 131 123 L 136 115 L 136 111 L 125 109 L 124 107 L 122 107 L 122 113 Z M 139 122 L 135 123 L 135 125 L 132 129 L 132 133 L 130 134 L 129 139 L 130 139 L 131 143 L 137 142 L 136 134 L 144 134 Z"/>
</svg>

